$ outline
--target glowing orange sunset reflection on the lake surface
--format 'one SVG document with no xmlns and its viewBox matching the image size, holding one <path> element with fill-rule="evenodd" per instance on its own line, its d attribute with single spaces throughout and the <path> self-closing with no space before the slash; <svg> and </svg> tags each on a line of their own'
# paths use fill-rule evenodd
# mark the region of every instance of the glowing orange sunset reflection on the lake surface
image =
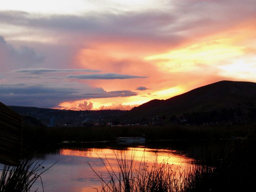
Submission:
<svg viewBox="0 0 256 192">
<path fill-rule="evenodd" d="M 63 169 L 66 169 L 67 165 L 70 164 L 74 164 L 74 167 L 77 168 L 76 170 L 74 170 L 75 168 L 70 169 L 70 172 L 76 175 L 75 178 L 78 179 L 75 179 L 75 183 L 76 185 L 79 185 L 74 185 L 72 191 L 79 192 L 94 192 L 97 191 L 95 188 L 98 190 L 101 189 L 100 179 L 95 172 L 102 176 L 103 180 L 107 182 L 111 179 L 110 174 L 119 176 L 120 167 L 118 160 L 120 160 L 119 163 L 122 164 L 125 159 L 125 167 L 130 169 L 131 159 L 133 158 L 132 170 L 134 174 L 136 171 L 143 170 L 148 170 L 150 172 L 150 170 L 155 169 L 155 167 L 161 167 L 160 164 L 168 163 L 169 165 L 166 165 L 165 167 L 167 169 L 170 168 L 171 171 L 173 171 L 173 174 L 177 177 L 179 177 L 180 172 L 189 168 L 187 163 L 190 163 L 193 160 L 188 158 L 186 154 L 182 154 L 181 151 L 145 148 L 143 146 L 119 149 L 60 149 L 60 155 L 65 156 L 65 166 Z M 74 176 L 72 176 L 72 179 L 74 180 Z"/>
</svg>

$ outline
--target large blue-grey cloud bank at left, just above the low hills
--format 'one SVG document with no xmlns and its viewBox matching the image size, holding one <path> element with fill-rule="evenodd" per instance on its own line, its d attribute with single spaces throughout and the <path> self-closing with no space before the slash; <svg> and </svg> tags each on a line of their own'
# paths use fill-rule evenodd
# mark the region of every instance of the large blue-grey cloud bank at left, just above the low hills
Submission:
<svg viewBox="0 0 256 192">
<path fill-rule="evenodd" d="M 57 107 L 64 101 L 75 101 L 91 98 L 129 97 L 137 95 L 129 90 L 106 92 L 101 87 L 69 83 L 64 85 L 50 84 L 1 84 L 0 101 L 6 105 Z"/>
</svg>

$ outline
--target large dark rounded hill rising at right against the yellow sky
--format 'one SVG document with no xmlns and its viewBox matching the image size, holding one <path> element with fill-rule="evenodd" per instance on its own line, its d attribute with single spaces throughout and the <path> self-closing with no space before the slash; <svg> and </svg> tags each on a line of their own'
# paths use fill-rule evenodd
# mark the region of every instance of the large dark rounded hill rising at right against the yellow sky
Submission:
<svg viewBox="0 0 256 192">
<path fill-rule="evenodd" d="M 125 119 L 181 116 L 183 113 L 219 111 L 223 108 L 256 109 L 256 83 L 219 81 L 167 100 L 151 100 L 125 114 Z"/>
</svg>

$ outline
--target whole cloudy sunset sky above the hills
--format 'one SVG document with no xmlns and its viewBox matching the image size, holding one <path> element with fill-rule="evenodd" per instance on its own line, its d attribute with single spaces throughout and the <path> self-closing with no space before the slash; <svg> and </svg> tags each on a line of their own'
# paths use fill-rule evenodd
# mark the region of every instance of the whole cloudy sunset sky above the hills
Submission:
<svg viewBox="0 0 256 192">
<path fill-rule="evenodd" d="M 121 109 L 220 80 L 256 82 L 255 0 L 8 0 L 0 101 Z"/>
</svg>

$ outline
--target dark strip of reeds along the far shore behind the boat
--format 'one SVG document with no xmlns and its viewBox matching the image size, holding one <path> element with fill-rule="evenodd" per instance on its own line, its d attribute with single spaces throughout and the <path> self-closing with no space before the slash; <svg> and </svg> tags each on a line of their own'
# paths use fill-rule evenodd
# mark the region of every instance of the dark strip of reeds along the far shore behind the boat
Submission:
<svg viewBox="0 0 256 192">
<path fill-rule="evenodd" d="M 130 126 L 130 127 L 24 127 L 24 143 L 57 144 L 69 142 L 114 141 L 115 137 L 142 137 L 146 140 L 200 140 L 246 137 L 249 125 L 212 126 Z"/>
</svg>

